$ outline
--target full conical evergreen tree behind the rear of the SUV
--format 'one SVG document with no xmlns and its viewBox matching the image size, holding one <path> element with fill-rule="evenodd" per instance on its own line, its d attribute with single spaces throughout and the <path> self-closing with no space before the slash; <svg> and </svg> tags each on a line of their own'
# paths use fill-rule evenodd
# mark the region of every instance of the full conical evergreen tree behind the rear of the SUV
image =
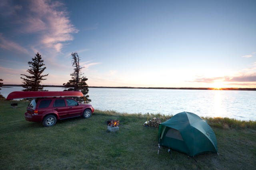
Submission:
<svg viewBox="0 0 256 170">
<path fill-rule="evenodd" d="M 41 55 L 37 53 L 34 59 L 32 58 L 32 61 L 28 62 L 28 65 L 30 68 L 27 72 L 31 75 L 20 74 L 26 77 L 20 77 L 23 80 L 22 87 L 25 88 L 23 91 L 47 91 L 43 90 L 44 86 L 40 84 L 42 80 L 46 80 L 44 77 L 48 76 L 48 74 L 42 75 L 46 67 L 42 67 L 44 66 L 44 60 L 42 60 Z"/>
</svg>

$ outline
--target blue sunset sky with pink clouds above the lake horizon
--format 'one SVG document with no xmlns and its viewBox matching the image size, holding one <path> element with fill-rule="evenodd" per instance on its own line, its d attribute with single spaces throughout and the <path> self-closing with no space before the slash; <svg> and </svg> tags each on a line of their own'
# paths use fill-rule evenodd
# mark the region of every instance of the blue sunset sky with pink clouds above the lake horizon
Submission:
<svg viewBox="0 0 256 170">
<path fill-rule="evenodd" d="M 0 79 L 40 53 L 62 85 L 77 52 L 88 86 L 256 88 L 255 0 L 1 0 Z M 24 76 L 23 76 L 24 77 Z"/>
</svg>

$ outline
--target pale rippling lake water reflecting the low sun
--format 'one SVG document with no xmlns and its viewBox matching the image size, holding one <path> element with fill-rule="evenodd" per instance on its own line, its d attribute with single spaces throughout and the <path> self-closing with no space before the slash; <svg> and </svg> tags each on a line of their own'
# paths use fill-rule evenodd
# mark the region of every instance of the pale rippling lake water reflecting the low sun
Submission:
<svg viewBox="0 0 256 170">
<path fill-rule="evenodd" d="M 2 87 L 7 97 L 22 87 Z M 49 91 L 63 88 L 47 87 Z M 120 113 L 161 113 L 175 115 L 188 111 L 204 117 L 229 117 L 256 121 L 256 91 L 236 90 L 169 90 L 89 88 L 89 98 L 95 109 Z"/>
</svg>

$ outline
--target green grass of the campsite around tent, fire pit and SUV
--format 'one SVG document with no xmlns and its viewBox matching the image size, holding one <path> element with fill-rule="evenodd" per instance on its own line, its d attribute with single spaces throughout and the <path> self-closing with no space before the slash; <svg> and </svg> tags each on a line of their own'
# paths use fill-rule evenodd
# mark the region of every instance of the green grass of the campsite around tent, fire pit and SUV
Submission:
<svg viewBox="0 0 256 170">
<path fill-rule="evenodd" d="M 0 101 L 0 169 L 252 169 L 256 166 L 255 121 L 209 118 L 218 141 L 217 154 L 195 158 L 161 147 L 158 128 L 143 127 L 145 114 L 96 110 L 89 119 L 58 121 L 54 127 L 24 119 L 27 102 L 10 108 Z M 160 117 L 162 121 L 170 116 Z M 107 131 L 106 121 L 120 120 L 120 130 Z M 195 161 L 196 159 L 196 161 Z"/>
</svg>

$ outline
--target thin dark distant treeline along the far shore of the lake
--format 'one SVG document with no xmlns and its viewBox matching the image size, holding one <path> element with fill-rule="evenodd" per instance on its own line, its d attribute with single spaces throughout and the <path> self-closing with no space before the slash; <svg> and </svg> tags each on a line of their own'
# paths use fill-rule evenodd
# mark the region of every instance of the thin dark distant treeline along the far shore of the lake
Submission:
<svg viewBox="0 0 256 170">
<path fill-rule="evenodd" d="M 3 86 L 22 86 L 21 84 L 3 84 Z M 45 85 L 45 87 L 64 87 L 56 85 Z M 89 88 L 134 88 L 134 89 L 180 89 L 180 90 L 249 90 L 256 91 L 256 88 L 192 88 L 192 87 L 106 87 L 106 86 L 89 86 Z"/>
</svg>

